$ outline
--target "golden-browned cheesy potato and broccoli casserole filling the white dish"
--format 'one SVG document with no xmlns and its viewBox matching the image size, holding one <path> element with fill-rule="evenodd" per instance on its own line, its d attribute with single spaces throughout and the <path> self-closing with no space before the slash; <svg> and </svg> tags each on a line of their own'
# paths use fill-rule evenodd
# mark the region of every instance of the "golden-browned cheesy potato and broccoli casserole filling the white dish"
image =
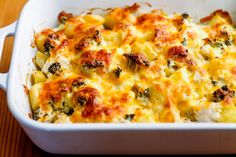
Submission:
<svg viewBox="0 0 236 157">
<path fill-rule="evenodd" d="M 236 38 L 222 10 L 61 12 L 35 34 L 33 119 L 77 122 L 236 122 Z"/>
</svg>

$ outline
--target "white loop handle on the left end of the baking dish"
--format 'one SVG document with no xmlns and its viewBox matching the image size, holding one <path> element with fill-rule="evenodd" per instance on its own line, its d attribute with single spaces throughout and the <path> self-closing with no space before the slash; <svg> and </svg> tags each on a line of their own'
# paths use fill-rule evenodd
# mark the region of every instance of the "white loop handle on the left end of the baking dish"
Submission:
<svg viewBox="0 0 236 157">
<path fill-rule="evenodd" d="M 1 61 L 5 38 L 8 36 L 15 35 L 16 26 L 17 26 L 17 21 L 0 29 L 0 61 Z M 8 78 L 8 73 L 0 73 L 0 88 L 5 91 L 7 88 L 7 78 Z"/>
</svg>

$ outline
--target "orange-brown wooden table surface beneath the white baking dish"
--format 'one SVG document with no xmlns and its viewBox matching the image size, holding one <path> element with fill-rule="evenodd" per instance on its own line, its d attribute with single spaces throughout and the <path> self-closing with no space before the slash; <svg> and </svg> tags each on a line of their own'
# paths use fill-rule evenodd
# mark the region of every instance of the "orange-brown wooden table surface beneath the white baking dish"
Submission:
<svg viewBox="0 0 236 157">
<path fill-rule="evenodd" d="M 16 21 L 27 0 L 0 0 L 0 28 Z M 6 39 L 0 72 L 7 72 L 14 38 Z M 7 108 L 6 93 L 0 90 L 0 157 L 51 156 L 37 148 Z"/>
</svg>

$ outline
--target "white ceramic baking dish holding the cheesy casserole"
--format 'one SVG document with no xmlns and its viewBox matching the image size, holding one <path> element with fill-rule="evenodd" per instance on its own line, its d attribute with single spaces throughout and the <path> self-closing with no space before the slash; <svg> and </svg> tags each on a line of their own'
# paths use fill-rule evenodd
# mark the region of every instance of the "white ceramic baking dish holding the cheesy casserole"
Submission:
<svg viewBox="0 0 236 157">
<path fill-rule="evenodd" d="M 7 92 L 8 107 L 26 134 L 41 149 L 62 154 L 176 154 L 236 153 L 236 124 L 46 124 L 29 118 L 30 105 L 23 85 L 30 87 L 34 68 L 33 32 L 56 26 L 57 15 L 75 14 L 88 8 L 119 7 L 140 0 L 30 0 L 19 20 L 0 29 L 0 52 L 4 38 L 15 35 L 10 70 L 0 74 L 0 87 Z M 141 0 L 143 2 L 143 0 Z M 187 12 L 204 17 L 216 9 L 236 11 L 234 0 L 146 0 L 168 13 Z M 1 54 L 1 53 L 0 53 Z"/>
</svg>

